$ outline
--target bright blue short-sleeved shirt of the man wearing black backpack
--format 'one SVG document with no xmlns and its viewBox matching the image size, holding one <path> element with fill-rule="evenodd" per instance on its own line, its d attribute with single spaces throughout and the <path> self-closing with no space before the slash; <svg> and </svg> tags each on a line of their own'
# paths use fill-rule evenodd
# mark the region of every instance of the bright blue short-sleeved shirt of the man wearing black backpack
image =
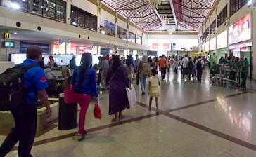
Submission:
<svg viewBox="0 0 256 157">
<path fill-rule="evenodd" d="M 38 100 L 37 90 L 42 90 L 48 87 L 46 82 L 46 76 L 44 70 L 39 67 L 39 64 L 34 60 L 26 59 L 21 65 L 27 66 L 29 64 L 35 64 L 38 67 L 32 67 L 25 71 L 25 88 L 30 90 L 27 93 L 27 103 L 35 104 Z"/>
</svg>

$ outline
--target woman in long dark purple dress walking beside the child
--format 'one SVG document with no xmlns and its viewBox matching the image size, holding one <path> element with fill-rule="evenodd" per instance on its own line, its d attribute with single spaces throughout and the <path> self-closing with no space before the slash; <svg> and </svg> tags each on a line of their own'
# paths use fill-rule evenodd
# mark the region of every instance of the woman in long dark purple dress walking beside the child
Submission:
<svg viewBox="0 0 256 157">
<path fill-rule="evenodd" d="M 120 57 L 113 55 L 113 64 L 108 68 L 105 86 L 109 86 L 109 111 L 108 114 L 115 114 L 112 121 L 119 121 L 124 118 L 122 110 L 129 104 L 125 87 L 129 87 L 125 67 L 120 63 Z"/>
</svg>

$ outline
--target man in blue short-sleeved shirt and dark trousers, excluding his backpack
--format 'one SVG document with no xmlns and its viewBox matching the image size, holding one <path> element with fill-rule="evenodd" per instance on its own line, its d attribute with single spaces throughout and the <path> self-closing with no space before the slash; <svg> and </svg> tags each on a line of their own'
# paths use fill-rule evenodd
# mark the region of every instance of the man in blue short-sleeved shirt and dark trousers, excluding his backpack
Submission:
<svg viewBox="0 0 256 157">
<path fill-rule="evenodd" d="M 3 144 L 0 147 L 0 157 L 6 156 L 13 146 L 19 141 L 18 156 L 31 156 L 30 151 L 34 142 L 37 130 L 37 100 L 40 98 L 42 104 L 46 107 L 46 116 L 51 116 L 51 108 L 45 88 L 48 87 L 44 70 L 39 67 L 42 50 L 38 46 L 27 48 L 27 59 L 22 66 L 35 64 L 25 71 L 25 88 L 28 89 L 26 101 L 18 109 L 12 110 L 15 120 L 15 128 L 12 128 Z"/>
</svg>

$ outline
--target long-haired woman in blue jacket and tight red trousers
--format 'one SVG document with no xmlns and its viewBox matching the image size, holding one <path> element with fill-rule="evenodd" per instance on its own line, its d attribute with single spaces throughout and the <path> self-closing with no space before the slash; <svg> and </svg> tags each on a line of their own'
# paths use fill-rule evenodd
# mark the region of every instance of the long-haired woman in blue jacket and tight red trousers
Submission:
<svg viewBox="0 0 256 157">
<path fill-rule="evenodd" d="M 75 97 L 80 106 L 79 130 L 77 133 L 78 141 L 84 139 L 84 122 L 87 109 L 90 104 L 91 95 L 94 94 L 94 102 L 98 102 L 98 92 L 96 88 L 96 72 L 92 67 L 91 53 L 83 53 L 81 57 L 81 66 L 75 67 L 72 75 L 71 88 L 73 88 Z"/>
</svg>

